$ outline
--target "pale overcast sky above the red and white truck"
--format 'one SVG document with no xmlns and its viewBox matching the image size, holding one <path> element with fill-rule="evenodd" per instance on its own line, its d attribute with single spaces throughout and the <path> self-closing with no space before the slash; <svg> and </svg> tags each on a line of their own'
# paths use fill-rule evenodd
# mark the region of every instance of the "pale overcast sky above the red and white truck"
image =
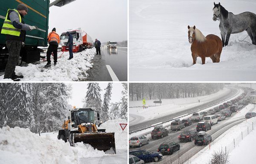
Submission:
<svg viewBox="0 0 256 164">
<path fill-rule="evenodd" d="M 50 3 L 55 0 L 50 0 Z M 49 8 L 49 32 L 81 27 L 101 42 L 127 40 L 127 0 L 75 0 Z"/>
</svg>

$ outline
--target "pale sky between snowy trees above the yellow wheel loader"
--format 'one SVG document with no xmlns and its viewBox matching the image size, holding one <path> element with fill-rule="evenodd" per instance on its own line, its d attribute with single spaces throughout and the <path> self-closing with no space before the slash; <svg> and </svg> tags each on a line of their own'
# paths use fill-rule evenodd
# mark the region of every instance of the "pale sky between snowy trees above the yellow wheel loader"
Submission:
<svg viewBox="0 0 256 164">
<path fill-rule="evenodd" d="M 68 102 L 72 106 L 76 106 L 76 108 L 82 108 L 83 107 L 83 102 L 82 99 L 85 97 L 86 92 L 87 92 L 87 83 L 71 83 L 72 85 L 72 98 L 68 99 Z M 101 88 L 101 99 L 103 102 L 103 96 L 105 94 L 105 89 L 108 86 L 108 83 L 99 83 L 99 87 Z M 110 103 L 115 103 L 121 100 L 122 98 L 122 91 L 123 91 L 123 86 L 122 83 L 112 83 L 112 95 L 111 95 L 111 100 Z"/>
</svg>

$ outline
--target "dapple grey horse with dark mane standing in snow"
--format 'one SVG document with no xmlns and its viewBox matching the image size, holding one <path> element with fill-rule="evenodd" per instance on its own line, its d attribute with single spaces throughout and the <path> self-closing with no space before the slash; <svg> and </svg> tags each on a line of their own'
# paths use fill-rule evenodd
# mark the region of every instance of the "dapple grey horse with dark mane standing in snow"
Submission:
<svg viewBox="0 0 256 164">
<path fill-rule="evenodd" d="M 256 14 L 252 12 L 243 12 L 234 15 L 228 12 L 221 3 L 215 4 L 213 8 L 213 20 L 219 18 L 219 30 L 221 30 L 222 46 L 229 43 L 230 34 L 237 34 L 246 31 L 252 40 L 252 44 L 256 44 Z M 225 42 L 226 36 L 226 42 Z"/>
</svg>

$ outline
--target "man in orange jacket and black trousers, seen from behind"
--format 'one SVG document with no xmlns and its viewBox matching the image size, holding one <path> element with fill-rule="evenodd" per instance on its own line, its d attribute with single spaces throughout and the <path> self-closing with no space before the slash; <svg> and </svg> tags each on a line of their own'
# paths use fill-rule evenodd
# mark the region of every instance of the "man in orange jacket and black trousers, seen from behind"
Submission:
<svg viewBox="0 0 256 164">
<path fill-rule="evenodd" d="M 53 60 L 54 60 L 54 66 L 55 66 L 57 63 L 57 49 L 60 43 L 60 36 L 56 33 L 56 28 L 52 29 L 52 32 L 49 33 L 47 39 L 48 39 L 49 47 L 46 52 L 47 64 L 45 65 L 45 67 L 51 66 L 50 55 L 52 54 L 52 52 L 53 52 Z"/>
</svg>

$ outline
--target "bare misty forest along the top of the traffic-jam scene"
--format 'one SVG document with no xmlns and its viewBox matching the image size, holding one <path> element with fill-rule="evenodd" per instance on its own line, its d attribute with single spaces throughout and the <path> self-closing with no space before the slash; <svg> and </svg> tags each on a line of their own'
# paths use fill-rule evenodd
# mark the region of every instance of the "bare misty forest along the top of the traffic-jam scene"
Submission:
<svg viewBox="0 0 256 164">
<path fill-rule="evenodd" d="M 216 93 L 224 83 L 130 83 L 129 98 L 133 100 L 198 97 Z"/>
</svg>

